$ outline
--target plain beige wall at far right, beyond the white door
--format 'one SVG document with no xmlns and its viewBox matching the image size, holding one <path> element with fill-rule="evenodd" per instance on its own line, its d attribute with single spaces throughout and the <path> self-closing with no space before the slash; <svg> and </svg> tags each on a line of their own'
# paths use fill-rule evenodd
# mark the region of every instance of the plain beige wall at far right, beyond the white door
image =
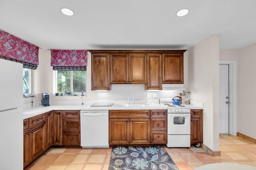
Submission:
<svg viewBox="0 0 256 170">
<path fill-rule="evenodd" d="M 256 139 L 256 43 L 238 49 L 238 132 Z"/>
</svg>

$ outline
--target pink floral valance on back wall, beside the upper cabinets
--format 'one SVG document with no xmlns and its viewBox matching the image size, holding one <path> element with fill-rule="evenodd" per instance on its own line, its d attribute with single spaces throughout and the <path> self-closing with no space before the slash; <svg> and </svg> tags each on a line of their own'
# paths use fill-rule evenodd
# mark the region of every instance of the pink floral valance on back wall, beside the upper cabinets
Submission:
<svg viewBox="0 0 256 170">
<path fill-rule="evenodd" d="M 51 66 L 70 69 L 87 66 L 87 50 L 51 50 Z"/>
</svg>

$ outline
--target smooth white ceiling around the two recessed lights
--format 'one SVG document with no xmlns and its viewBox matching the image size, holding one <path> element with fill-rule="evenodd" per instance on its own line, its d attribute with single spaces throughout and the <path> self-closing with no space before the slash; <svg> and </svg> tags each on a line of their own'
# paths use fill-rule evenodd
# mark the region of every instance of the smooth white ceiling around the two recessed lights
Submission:
<svg viewBox="0 0 256 170">
<path fill-rule="evenodd" d="M 0 0 L 0 29 L 45 49 L 221 49 L 256 43 L 256 0 Z M 66 7 L 75 15 L 65 16 Z M 176 17 L 189 8 L 190 13 Z"/>
</svg>

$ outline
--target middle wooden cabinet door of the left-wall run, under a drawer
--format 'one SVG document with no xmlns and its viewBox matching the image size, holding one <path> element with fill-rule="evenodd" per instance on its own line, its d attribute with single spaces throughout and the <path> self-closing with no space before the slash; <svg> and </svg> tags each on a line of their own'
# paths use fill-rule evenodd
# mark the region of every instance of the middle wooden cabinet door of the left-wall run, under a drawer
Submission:
<svg viewBox="0 0 256 170">
<path fill-rule="evenodd" d="M 46 151 L 45 123 L 30 129 L 30 162 Z"/>
</svg>

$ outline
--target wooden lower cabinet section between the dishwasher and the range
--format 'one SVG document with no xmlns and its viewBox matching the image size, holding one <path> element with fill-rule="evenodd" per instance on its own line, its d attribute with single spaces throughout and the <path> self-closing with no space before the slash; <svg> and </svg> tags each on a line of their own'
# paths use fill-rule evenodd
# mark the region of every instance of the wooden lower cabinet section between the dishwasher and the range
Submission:
<svg viewBox="0 0 256 170">
<path fill-rule="evenodd" d="M 150 113 L 159 119 L 151 119 Z M 166 113 L 166 110 L 110 110 L 110 146 L 167 143 Z"/>
</svg>

